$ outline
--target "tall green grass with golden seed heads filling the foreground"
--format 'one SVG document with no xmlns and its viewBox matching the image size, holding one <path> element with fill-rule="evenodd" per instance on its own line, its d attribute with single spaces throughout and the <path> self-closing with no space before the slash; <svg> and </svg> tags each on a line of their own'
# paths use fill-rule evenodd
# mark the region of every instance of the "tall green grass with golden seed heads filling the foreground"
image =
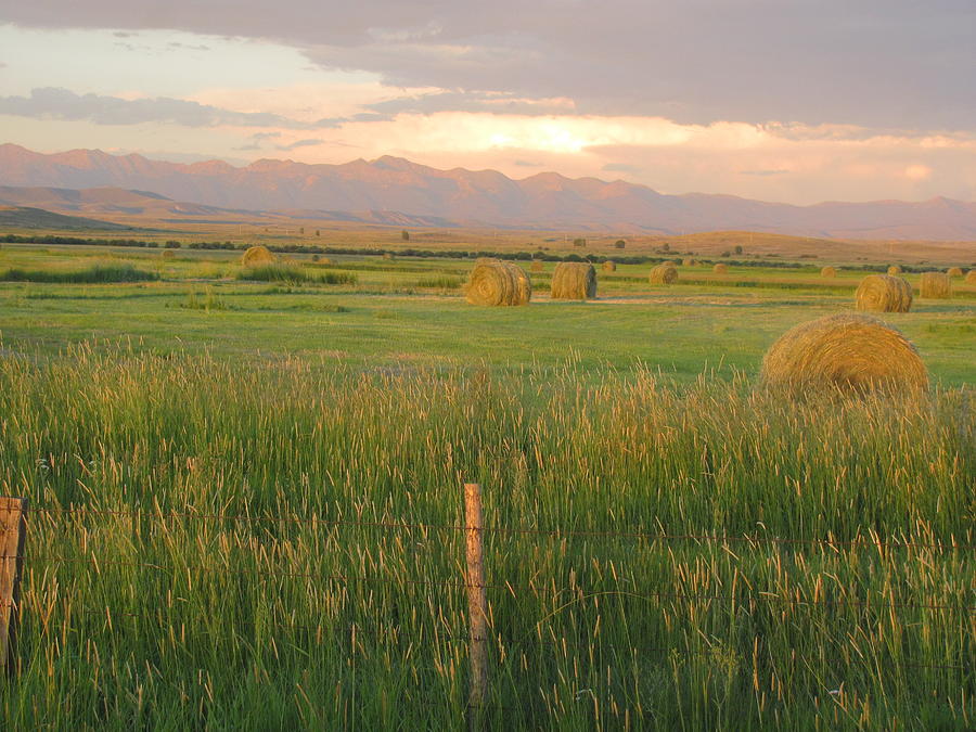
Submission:
<svg viewBox="0 0 976 732">
<path fill-rule="evenodd" d="M 3 716 L 457 729 L 477 480 L 492 727 L 972 727 L 973 406 L 570 365 L 7 358 L 0 480 L 49 512 Z M 694 538 L 725 535 L 752 540 Z"/>
</svg>

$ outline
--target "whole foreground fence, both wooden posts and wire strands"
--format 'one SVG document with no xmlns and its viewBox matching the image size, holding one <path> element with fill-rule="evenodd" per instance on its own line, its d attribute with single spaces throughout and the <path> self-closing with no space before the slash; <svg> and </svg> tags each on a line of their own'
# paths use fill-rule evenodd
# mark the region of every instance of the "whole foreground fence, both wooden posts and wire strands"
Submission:
<svg viewBox="0 0 976 732">
<path fill-rule="evenodd" d="M 23 565 L 31 557 L 42 560 L 43 562 L 54 564 L 97 564 L 99 566 L 123 565 L 143 568 L 152 568 L 157 572 L 166 572 L 167 567 L 156 563 L 138 562 L 138 561 L 114 561 L 101 560 L 86 556 L 54 556 L 54 555 L 35 555 L 33 550 L 25 550 L 25 542 L 28 535 L 28 517 L 30 515 L 48 516 L 51 519 L 64 516 L 127 516 L 137 519 L 147 519 L 156 522 L 167 521 L 229 521 L 229 522 L 249 522 L 249 523 L 288 523 L 305 524 L 316 526 L 357 526 L 373 527 L 386 531 L 397 531 L 407 529 L 423 529 L 429 531 L 445 532 L 464 532 L 464 567 L 465 574 L 462 578 L 437 579 L 437 578 L 387 578 L 378 575 L 357 575 L 352 573 L 342 574 L 321 574 L 321 573 L 275 573 L 277 577 L 301 577 L 309 579 L 318 579 L 323 581 L 337 582 L 381 582 L 396 585 L 419 585 L 419 586 L 438 586 L 453 587 L 465 590 L 467 594 L 467 617 L 464 618 L 468 632 L 466 634 L 446 635 L 438 634 L 441 640 L 466 642 L 468 645 L 468 656 L 471 662 L 470 677 L 470 696 L 468 696 L 468 719 L 473 729 L 483 725 L 483 708 L 487 698 L 487 690 L 489 685 L 490 668 L 489 655 L 486 645 L 490 640 L 488 628 L 488 603 L 487 591 L 503 591 L 513 596 L 517 596 L 519 592 L 531 590 L 529 586 L 513 585 L 509 581 L 489 582 L 485 575 L 485 548 L 484 536 L 486 534 L 502 535 L 528 535 L 549 537 L 561 540 L 570 539 L 638 539 L 647 542 L 692 542 L 692 543 L 709 543 L 723 545 L 746 545 L 757 548 L 761 545 L 778 547 L 821 547 L 834 550 L 851 550 L 858 548 L 873 549 L 876 551 L 898 551 L 898 550 L 936 550 L 952 552 L 972 552 L 976 550 L 976 544 L 952 542 L 899 542 L 899 541 L 882 541 L 875 538 L 858 538 L 852 540 L 835 540 L 835 539 L 791 539 L 782 537 L 769 536 L 729 536 L 721 534 L 666 534 L 654 531 L 591 531 L 591 530 L 564 530 L 564 529 L 541 529 L 526 526 L 486 526 L 483 519 L 484 510 L 481 504 L 481 490 L 477 484 L 466 484 L 464 486 L 464 521 L 459 524 L 424 524 L 424 523 L 406 523 L 406 522 L 376 522 L 376 521 L 348 521 L 348 519 L 326 519 L 320 517 L 298 517 L 298 516 L 252 516 L 252 515 L 233 515 L 233 514 L 208 514 L 197 512 L 163 512 L 163 511 L 115 511 L 100 510 L 88 508 L 66 508 L 66 509 L 30 509 L 28 510 L 27 499 L 23 498 L 0 498 L 0 663 L 5 662 L 8 668 L 14 667 L 16 656 L 16 631 L 22 614 L 26 613 L 30 607 L 29 602 L 23 602 L 20 594 L 21 575 Z M 233 574 L 254 574 L 248 569 L 233 569 L 229 567 L 196 567 L 201 572 L 218 572 L 226 575 Z M 177 568 L 172 567 L 176 572 Z M 568 588 L 567 588 L 568 589 Z M 581 591 L 578 585 L 574 585 L 574 591 Z M 752 589 L 752 588 L 750 588 Z M 733 592 L 733 593 L 694 593 L 694 592 L 671 592 L 666 589 L 659 592 L 641 593 L 641 598 L 657 600 L 679 600 L 679 601 L 730 601 L 736 603 L 781 603 L 792 606 L 856 606 L 873 609 L 897 609 L 913 608 L 930 612 L 962 612 L 963 614 L 976 614 L 976 606 L 967 606 L 960 604 L 939 604 L 924 602 L 876 602 L 857 599 L 792 599 L 778 594 L 763 593 L 761 591 L 750 592 Z M 145 617 L 149 614 L 131 613 L 112 607 L 86 607 L 81 608 L 84 613 L 93 613 L 104 615 L 110 619 L 115 617 Z M 155 617 L 155 616 L 153 616 Z M 316 631 L 313 626 L 305 626 L 301 624 L 274 622 L 269 624 L 277 628 L 287 629 L 306 629 Z M 320 630 L 320 629 L 319 629 Z M 498 629 L 496 629 L 497 631 Z M 356 627 L 350 627 L 351 632 L 356 632 Z M 532 643 L 552 643 L 560 646 L 573 646 L 575 639 L 570 638 L 553 638 L 547 641 L 536 639 Z M 506 641 L 511 645 L 519 645 L 518 641 Z M 611 647 L 616 647 L 611 644 Z M 653 653 L 671 653 L 677 648 L 651 646 L 651 645 L 628 645 L 627 650 L 641 650 Z M 681 651 L 682 654 L 707 655 L 707 652 L 695 652 L 693 650 Z M 899 666 L 908 668 L 941 668 L 941 669 L 961 669 L 966 670 L 967 666 L 950 665 L 950 664 L 913 664 L 899 662 Z"/>
</svg>

